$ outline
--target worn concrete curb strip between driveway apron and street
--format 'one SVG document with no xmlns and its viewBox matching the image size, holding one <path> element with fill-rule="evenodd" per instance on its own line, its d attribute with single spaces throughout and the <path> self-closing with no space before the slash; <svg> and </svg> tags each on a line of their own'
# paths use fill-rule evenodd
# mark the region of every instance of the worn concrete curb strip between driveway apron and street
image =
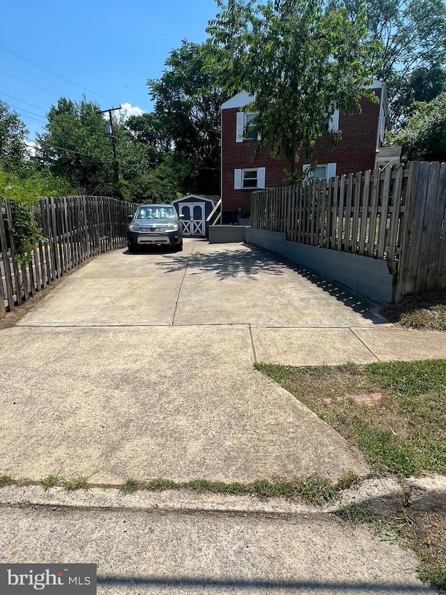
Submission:
<svg viewBox="0 0 446 595">
<path fill-rule="evenodd" d="M 158 513 L 210 513 L 234 515 L 321 515 L 358 507 L 374 515 L 409 511 L 446 511 L 446 476 L 430 474 L 397 481 L 392 477 L 364 479 L 356 488 L 341 492 L 339 499 L 316 506 L 274 497 L 192 492 L 184 488 L 164 491 L 139 490 L 123 493 L 117 488 L 89 488 L 66 492 L 40 485 L 8 485 L 0 489 L 0 506 L 40 506 L 102 511 Z"/>
</svg>

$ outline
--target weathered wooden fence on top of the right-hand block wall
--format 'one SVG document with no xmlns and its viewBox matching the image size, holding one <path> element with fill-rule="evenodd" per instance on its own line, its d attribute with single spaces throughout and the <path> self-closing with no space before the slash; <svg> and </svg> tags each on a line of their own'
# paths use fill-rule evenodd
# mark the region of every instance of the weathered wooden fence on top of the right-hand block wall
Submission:
<svg viewBox="0 0 446 595">
<path fill-rule="evenodd" d="M 395 300 L 446 288 L 446 163 L 411 162 L 252 193 L 252 227 L 387 259 Z"/>
</svg>

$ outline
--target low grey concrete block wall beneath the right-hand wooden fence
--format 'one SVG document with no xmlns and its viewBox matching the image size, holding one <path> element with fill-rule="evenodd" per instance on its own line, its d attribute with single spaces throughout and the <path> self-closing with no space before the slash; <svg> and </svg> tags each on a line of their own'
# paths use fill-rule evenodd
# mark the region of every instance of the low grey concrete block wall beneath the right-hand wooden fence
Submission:
<svg viewBox="0 0 446 595">
<path fill-rule="evenodd" d="M 327 279 L 375 301 L 394 301 L 393 278 L 385 260 L 286 240 L 280 232 L 247 227 L 245 241 L 277 252 Z"/>
</svg>

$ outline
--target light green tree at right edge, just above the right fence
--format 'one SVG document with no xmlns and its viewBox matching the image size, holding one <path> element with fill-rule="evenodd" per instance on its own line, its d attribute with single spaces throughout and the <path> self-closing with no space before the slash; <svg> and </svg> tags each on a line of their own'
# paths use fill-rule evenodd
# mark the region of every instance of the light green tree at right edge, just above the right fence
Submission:
<svg viewBox="0 0 446 595">
<path fill-rule="evenodd" d="M 446 161 L 446 92 L 417 104 L 417 112 L 393 140 L 402 146 L 403 160 Z"/>
</svg>

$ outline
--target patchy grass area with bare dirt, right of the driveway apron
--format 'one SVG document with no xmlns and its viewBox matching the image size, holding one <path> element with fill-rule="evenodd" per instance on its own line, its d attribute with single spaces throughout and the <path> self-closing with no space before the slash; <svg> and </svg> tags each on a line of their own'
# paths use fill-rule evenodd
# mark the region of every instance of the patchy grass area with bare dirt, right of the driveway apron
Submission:
<svg viewBox="0 0 446 595">
<path fill-rule="evenodd" d="M 358 446 L 376 474 L 446 474 L 446 360 L 255 367 Z M 369 392 L 383 394 L 374 407 L 348 398 Z"/>
</svg>

